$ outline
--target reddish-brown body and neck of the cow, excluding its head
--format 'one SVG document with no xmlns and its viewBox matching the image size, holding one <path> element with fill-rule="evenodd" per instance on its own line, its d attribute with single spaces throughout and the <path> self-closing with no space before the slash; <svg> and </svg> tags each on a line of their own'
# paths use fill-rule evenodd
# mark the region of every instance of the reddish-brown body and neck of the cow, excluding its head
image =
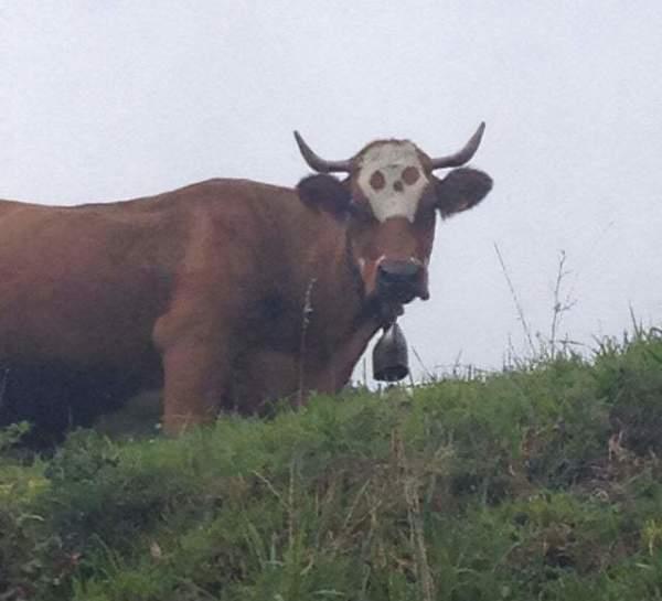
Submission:
<svg viewBox="0 0 662 601">
<path fill-rule="evenodd" d="M 345 238 L 295 191 L 247 181 L 77 207 L 2 201 L 0 363 L 136 387 L 162 371 L 168 432 L 220 406 L 337 391 L 380 326 Z"/>
</svg>

